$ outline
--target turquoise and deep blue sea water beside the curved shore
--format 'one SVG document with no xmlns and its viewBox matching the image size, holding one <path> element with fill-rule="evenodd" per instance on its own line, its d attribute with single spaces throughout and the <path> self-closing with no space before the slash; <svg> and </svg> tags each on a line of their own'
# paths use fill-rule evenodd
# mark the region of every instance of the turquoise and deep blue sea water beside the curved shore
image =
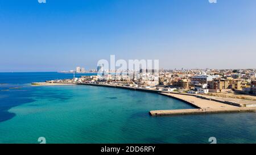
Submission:
<svg viewBox="0 0 256 155">
<path fill-rule="evenodd" d="M 140 91 L 28 84 L 72 76 L 0 73 L 0 143 L 256 143 L 255 113 L 152 117 L 193 107 Z"/>
</svg>

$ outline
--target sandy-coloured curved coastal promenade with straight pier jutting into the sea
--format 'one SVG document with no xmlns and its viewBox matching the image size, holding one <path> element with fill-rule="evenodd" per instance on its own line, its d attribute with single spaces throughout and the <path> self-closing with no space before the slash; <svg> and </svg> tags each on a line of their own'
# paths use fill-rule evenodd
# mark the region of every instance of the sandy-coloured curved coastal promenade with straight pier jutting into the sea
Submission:
<svg viewBox="0 0 256 155">
<path fill-rule="evenodd" d="M 49 83 L 43 85 L 55 85 L 55 83 Z M 61 82 L 56 83 L 56 85 L 61 84 Z M 256 112 L 256 107 L 241 107 L 241 104 L 233 102 L 225 102 L 223 100 L 211 99 L 208 97 L 203 97 L 196 94 L 185 94 L 176 93 L 170 91 L 162 91 L 156 89 L 146 89 L 142 87 L 131 87 L 131 86 L 120 86 L 120 85 L 110 85 L 105 83 L 62 83 L 71 85 L 89 85 L 89 86 L 104 86 L 104 87 L 115 87 L 118 89 L 129 89 L 138 91 L 147 91 L 150 93 L 158 93 L 160 95 L 165 95 L 170 98 L 175 98 L 182 100 L 183 102 L 190 104 L 195 107 L 195 109 L 182 109 L 182 110 L 152 110 L 149 112 L 151 116 L 163 116 L 163 115 L 189 115 L 189 114 L 212 114 L 212 113 L 228 113 L 228 112 Z"/>
</svg>

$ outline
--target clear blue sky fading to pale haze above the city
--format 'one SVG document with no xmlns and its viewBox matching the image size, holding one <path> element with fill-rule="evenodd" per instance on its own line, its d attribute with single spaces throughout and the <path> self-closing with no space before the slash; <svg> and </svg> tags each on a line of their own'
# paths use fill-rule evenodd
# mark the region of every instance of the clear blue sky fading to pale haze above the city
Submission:
<svg viewBox="0 0 256 155">
<path fill-rule="evenodd" d="M 96 69 L 110 55 L 256 68 L 256 1 L 0 0 L 0 54 L 0 72 Z"/>
</svg>

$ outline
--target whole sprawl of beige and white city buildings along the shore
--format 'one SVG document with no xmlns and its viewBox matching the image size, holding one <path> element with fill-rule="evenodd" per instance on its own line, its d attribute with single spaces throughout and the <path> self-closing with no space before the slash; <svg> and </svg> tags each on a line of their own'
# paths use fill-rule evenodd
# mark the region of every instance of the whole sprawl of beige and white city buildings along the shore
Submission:
<svg viewBox="0 0 256 155">
<path fill-rule="evenodd" d="M 75 72 L 85 73 L 79 66 Z M 82 77 L 84 82 L 107 82 L 137 85 L 138 87 L 156 86 L 159 90 L 187 93 L 240 93 L 256 95 L 256 69 L 188 69 L 188 70 L 103 70 L 102 66 L 89 70 L 97 76 Z"/>
</svg>

